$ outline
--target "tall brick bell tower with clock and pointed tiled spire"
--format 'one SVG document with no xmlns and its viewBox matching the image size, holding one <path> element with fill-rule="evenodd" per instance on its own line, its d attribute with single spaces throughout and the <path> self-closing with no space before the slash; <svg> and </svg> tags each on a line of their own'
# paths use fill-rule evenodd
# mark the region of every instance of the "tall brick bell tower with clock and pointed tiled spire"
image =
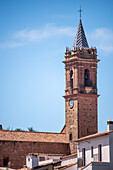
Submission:
<svg viewBox="0 0 113 170">
<path fill-rule="evenodd" d="M 65 52 L 65 132 L 70 153 L 75 140 L 97 132 L 97 50 L 89 48 L 80 19 L 72 50 Z"/>
</svg>

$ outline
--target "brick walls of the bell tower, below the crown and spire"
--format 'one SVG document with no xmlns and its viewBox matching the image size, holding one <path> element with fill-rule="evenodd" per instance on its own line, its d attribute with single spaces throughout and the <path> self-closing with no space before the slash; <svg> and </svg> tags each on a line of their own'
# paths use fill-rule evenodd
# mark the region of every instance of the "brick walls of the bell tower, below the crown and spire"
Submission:
<svg viewBox="0 0 113 170">
<path fill-rule="evenodd" d="M 68 60 L 72 59 L 71 56 Z M 79 59 L 78 59 L 79 60 Z M 89 84 L 85 86 L 85 70 L 89 72 Z M 70 73 L 73 71 L 73 89 L 70 85 Z M 65 108 L 66 134 L 72 134 L 70 153 L 76 153 L 75 140 L 97 132 L 97 62 L 87 60 L 70 60 L 65 64 Z M 83 97 L 82 97 L 83 96 Z M 70 109 L 69 100 L 74 100 Z"/>
</svg>

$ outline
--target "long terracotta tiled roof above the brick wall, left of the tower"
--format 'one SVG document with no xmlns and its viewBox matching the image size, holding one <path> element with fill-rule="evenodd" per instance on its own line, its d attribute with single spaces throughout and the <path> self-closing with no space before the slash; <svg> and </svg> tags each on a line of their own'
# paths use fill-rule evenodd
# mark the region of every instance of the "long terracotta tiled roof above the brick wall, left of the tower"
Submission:
<svg viewBox="0 0 113 170">
<path fill-rule="evenodd" d="M 0 131 L 0 141 L 68 143 L 64 133 Z"/>
</svg>

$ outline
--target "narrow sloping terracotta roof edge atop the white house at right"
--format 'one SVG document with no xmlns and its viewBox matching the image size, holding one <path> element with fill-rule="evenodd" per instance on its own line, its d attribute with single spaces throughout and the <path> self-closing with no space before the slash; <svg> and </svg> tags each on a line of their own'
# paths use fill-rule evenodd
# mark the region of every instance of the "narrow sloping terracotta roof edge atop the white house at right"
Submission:
<svg viewBox="0 0 113 170">
<path fill-rule="evenodd" d="M 105 135 L 108 135 L 109 133 L 112 133 L 112 132 L 113 132 L 113 130 L 95 133 L 95 134 L 92 134 L 92 135 L 88 135 L 88 136 L 79 138 L 75 142 L 81 142 L 81 141 L 84 141 L 84 140 L 87 140 L 87 139 L 93 139 L 93 138 L 97 138 L 97 137 L 100 137 L 100 136 L 105 136 Z"/>
</svg>

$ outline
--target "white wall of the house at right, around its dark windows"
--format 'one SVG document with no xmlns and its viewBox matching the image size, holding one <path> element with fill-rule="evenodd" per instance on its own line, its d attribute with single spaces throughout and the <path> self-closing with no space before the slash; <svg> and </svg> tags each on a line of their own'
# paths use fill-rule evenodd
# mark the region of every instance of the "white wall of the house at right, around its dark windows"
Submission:
<svg viewBox="0 0 113 170">
<path fill-rule="evenodd" d="M 110 162 L 109 135 L 86 140 L 78 144 L 78 158 L 82 158 L 82 149 L 85 148 L 85 164 L 91 161 L 98 161 L 98 145 L 102 145 L 102 162 Z M 93 158 L 91 158 L 91 146 L 93 146 Z"/>
</svg>

